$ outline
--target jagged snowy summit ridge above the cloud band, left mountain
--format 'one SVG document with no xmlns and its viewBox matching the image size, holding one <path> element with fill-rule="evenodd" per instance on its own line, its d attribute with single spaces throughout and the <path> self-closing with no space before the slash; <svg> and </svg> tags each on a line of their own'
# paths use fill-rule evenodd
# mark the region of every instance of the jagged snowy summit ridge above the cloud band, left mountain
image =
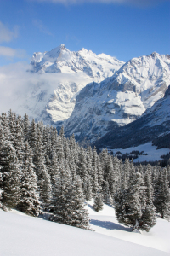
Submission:
<svg viewBox="0 0 170 256">
<path fill-rule="evenodd" d="M 31 60 L 33 72 L 38 73 L 86 73 L 99 81 L 111 77 L 123 61 L 109 55 L 96 55 L 91 50 L 82 48 L 71 52 L 64 44 L 48 52 L 34 53 Z"/>
</svg>

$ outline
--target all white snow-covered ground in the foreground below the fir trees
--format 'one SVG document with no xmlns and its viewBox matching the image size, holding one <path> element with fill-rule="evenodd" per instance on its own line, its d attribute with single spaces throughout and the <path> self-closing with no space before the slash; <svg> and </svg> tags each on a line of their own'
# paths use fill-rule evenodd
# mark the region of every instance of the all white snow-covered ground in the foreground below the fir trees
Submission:
<svg viewBox="0 0 170 256">
<path fill-rule="evenodd" d="M 113 207 L 87 208 L 94 231 L 81 230 L 21 212 L 0 210 L 1 256 L 164 256 L 170 255 L 170 223 L 161 218 L 149 233 L 132 233 L 118 224 Z"/>
</svg>

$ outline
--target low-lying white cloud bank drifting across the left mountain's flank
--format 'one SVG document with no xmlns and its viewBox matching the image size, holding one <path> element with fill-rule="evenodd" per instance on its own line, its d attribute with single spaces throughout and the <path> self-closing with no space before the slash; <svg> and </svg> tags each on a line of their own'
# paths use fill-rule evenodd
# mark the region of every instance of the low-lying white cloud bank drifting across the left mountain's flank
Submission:
<svg viewBox="0 0 170 256">
<path fill-rule="evenodd" d="M 82 79 L 78 73 L 31 73 L 31 65 L 18 62 L 0 67 L 0 113 L 11 108 L 24 116 L 27 113 L 37 119 L 46 109 L 59 84 L 88 84 L 87 76 Z M 82 81 L 83 80 L 83 81 Z M 66 92 L 65 92 L 66 93 Z M 43 99 L 40 99 L 40 95 Z"/>
</svg>

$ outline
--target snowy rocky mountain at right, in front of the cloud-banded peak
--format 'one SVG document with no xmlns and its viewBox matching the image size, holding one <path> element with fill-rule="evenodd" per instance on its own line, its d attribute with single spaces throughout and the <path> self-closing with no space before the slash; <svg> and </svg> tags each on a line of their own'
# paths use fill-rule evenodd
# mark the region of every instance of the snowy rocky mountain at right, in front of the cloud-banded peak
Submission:
<svg viewBox="0 0 170 256">
<path fill-rule="evenodd" d="M 169 84 L 170 55 L 154 52 L 133 58 L 111 78 L 81 90 L 71 117 L 65 120 L 65 132 L 91 142 L 103 137 L 138 119 L 164 96 Z"/>
</svg>

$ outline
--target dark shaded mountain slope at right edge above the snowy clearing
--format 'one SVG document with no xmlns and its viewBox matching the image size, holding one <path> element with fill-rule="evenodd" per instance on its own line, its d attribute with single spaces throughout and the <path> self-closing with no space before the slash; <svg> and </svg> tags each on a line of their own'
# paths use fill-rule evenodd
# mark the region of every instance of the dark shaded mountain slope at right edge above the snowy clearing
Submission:
<svg viewBox="0 0 170 256">
<path fill-rule="evenodd" d="M 145 143 L 170 149 L 170 85 L 165 96 L 134 122 L 113 129 L 95 142 L 97 148 L 131 148 Z"/>
</svg>

